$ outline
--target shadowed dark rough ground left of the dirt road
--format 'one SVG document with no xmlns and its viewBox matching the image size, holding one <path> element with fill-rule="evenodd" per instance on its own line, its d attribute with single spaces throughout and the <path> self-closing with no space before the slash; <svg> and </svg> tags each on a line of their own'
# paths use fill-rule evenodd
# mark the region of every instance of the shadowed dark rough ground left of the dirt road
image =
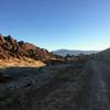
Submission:
<svg viewBox="0 0 110 110">
<path fill-rule="evenodd" d="M 79 110 L 90 78 L 85 65 L 70 63 L 0 69 L 0 109 Z"/>
</svg>

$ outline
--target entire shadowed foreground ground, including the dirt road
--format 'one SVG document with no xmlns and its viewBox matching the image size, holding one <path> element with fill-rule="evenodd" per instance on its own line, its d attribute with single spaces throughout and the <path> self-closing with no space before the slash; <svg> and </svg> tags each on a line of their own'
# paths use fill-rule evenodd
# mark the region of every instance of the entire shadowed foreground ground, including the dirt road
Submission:
<svg viewBox="0 0 110 110">
<path fill-rule="evenodd" d="M 1 110 L 110 110 L 109 65 L 89 61 L 1 68 Z"/>
</svg>

